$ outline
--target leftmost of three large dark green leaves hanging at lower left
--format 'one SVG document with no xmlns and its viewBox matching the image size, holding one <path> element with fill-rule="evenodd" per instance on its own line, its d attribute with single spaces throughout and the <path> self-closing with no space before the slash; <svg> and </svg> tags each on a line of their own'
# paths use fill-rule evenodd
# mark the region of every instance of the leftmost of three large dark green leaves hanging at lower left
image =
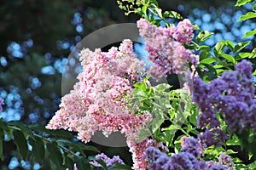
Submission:
<svg viewBox="0 0 256 170">
<path fill-rule="evenodd" d="M 20 130 L 14 130 L 14 141 L 21 158 L 26 159 L 28 147 L 24 134 Z"/>
</svg>

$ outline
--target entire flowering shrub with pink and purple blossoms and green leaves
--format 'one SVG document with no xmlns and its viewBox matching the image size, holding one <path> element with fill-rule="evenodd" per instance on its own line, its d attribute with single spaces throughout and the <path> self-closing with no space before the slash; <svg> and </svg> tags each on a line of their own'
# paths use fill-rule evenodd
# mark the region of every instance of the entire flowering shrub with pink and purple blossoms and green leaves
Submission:
<svg viewBox="0 0 256 170">
<path fill-rule="evenodd" d="M 51 169 L 131 169 L 119 156 L 84 154 L 100 152 L 84 143 L 101 130 L 106 136 L 125 133 L 134 169 L 255 169 L 256 71 L 248 60 L 256 58 L 256 48 L 245 51 L 252 41 L 221 40 L 210 47 L 205 41 L 212 32 L 175 11 L 163 12 L 155 0 L 118 3 L 126 14 L 141 15 L 137 27 L 154 66 L 141 69 L 130 40 L 108 52 L 84 49 L 79 82 L 47 125 L 55 130 L 1 120 L 2 161 L 3 143 L 13 141 L 19 161 L 29 161 L 31 169 L 34 163 L 44 167 L 43 157 Z M 252 11 L 238 21 L 256 18 L 252 0 L 236 6 L 248 3 Z M 148 79 L 172 73 L 186 79 L 180 89 L 152 86 Z M 0 98 L 0 111 L 3 104 Z M 77 132 L 84 143 L 59 128 Z"/>
</svg>

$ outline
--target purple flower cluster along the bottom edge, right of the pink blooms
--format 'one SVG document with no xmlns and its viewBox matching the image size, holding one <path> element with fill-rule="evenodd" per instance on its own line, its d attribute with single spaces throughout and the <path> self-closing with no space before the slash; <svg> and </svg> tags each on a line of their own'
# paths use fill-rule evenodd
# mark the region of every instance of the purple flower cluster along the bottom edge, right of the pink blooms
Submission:
<svg viewBox="0 0 256 170">
<path fill-rule="evenodd" d="M 183 137 L 182 151 L 173 156 L 157 150 L 153 146 L 145 150 L 145 160 L 148 161 L 148 169 L 154 170 L 232 170 L 234 163 L 230 156 L 221 153 L 219 161 L 202 161 L 204 146 L 198 139 Z"/>
</svg>

